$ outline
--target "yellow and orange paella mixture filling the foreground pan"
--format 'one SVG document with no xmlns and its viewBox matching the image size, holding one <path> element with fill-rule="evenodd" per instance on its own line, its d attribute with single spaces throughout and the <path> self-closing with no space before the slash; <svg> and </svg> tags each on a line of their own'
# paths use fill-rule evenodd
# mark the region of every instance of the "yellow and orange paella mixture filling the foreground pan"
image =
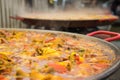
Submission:
<svg viewBox="0 0 120 80">
<path fill-rule="evenodd" d="M 84 80 L 109 68 L 115 56 L 75 35 L 0 30 L 0 80 Z"/>
</svg>

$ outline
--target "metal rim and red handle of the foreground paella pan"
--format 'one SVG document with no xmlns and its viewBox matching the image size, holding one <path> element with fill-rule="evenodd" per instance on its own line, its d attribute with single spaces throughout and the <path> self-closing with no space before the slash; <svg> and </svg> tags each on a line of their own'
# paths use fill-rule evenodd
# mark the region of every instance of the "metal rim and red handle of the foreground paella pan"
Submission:
<svg viewBox="0 0 120 80">
<path fill-rule="evenodd" d="M 88 77 L 85 80 L 100 80 L 100 79 L 103 79 L 106 76 L 108 76 L 111 73 L 113 73 L 120 66 L 120 49 L 118 49 L 116 46 L 114 46 L 110 42 L 107 42 L 107 41 L 112 41 L 112 40 L 115 40 L 115 39 L 120 39 L 120 34 L 119 33 L 106 32 L 106 31 L 98 31 L 98 32 L 94 32 L 94 33 L 88 34 L 88 36 L 87 36 L 87 35 L 82 35 L 82 34 L 60 32 L 60 31 L 50 31 L 50 30 L 33 30 L 33 29 L 31 29 L 31 30 L 30 29 L 4 29 L 4 30 L 35 31 L 35 32 L 43 32 L 43 33 L 54 33 L 54 34 L 65 34 L 65 35 L 70 35 L 70 36 L 76 36 L 76 37 L 80 37 L 80 38 L 85 39 L 86 42 L 93 42 L 93 43 L 94 42 L 98 42 L 99 43 L 98 45 L 101 45 L 103 47 L 103 49 L 113 50 L 114 51 L 114 55 L 115 55 L 115 60 L 112 63 L 112 65 L 108 69 L 106 69 L 105 71 L 103 71 L 102 73 L 99 73 L 97 75 L 93 75 L 91 77 Z M 103 34 L 104 33 L 104 34 L 109 34 L 109 35 L 112 34 L 112 35 L 114 35 L 114 37 L 107 38 L 106 39 L 107 41 L 102 40 L 102 39 L 98 39 L 98 38 L 95 38 L 95 37 L 90 37 L 92 35 L 95 35 L 96 33 L 97 34 L 100 34 L 100 33 Z M 113 57 L 114 56 L 112 56 L 112 55 L 109 54 L 109 58 L 112 59 Z M 77 80 L 79 80 L 79 79 L 77 79 Z"/>
</svg>

